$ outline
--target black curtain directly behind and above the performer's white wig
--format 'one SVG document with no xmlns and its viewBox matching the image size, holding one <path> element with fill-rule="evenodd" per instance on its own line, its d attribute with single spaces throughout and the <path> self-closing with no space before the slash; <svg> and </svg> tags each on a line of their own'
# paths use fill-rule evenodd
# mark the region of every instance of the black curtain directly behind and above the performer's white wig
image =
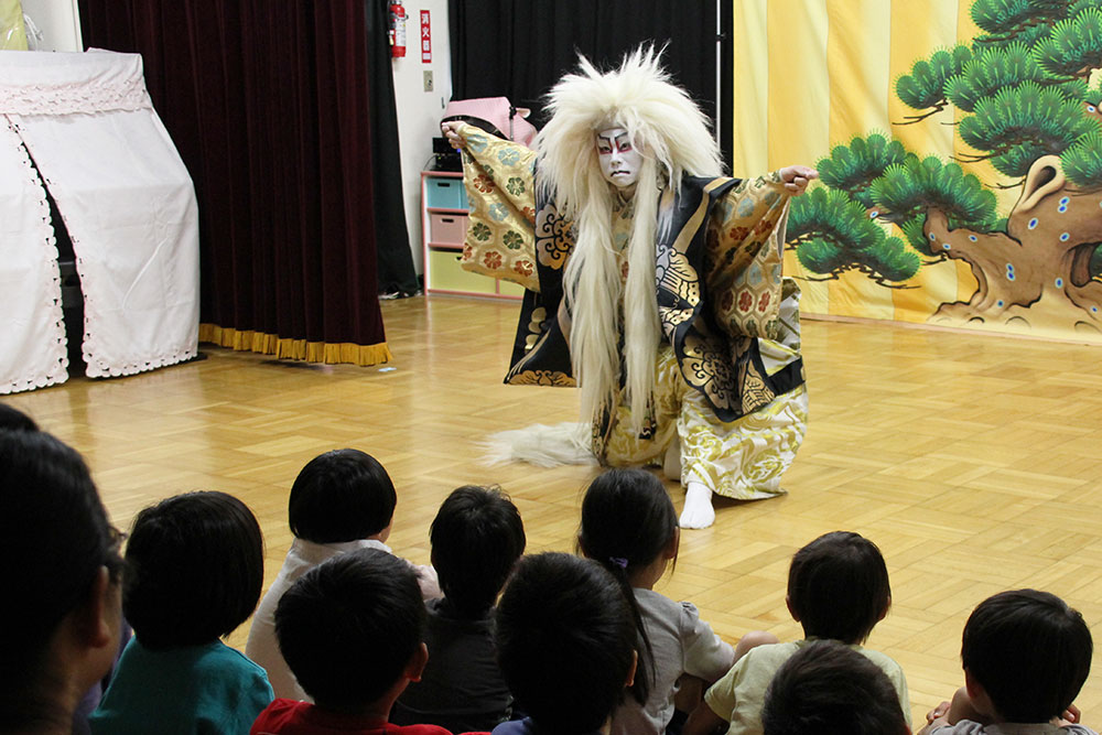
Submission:
<svg viewBox="0 0 1102 735">
<path fill-rule="evenodd" d="M 447 10 L 453 99 L 505 96 L 542 127 L 541 98 L 576 68 L 579 53 L 611 68 L 653 41 L 669 44 L 674 82 L 716 119 L 715 0 L 449 0 Z"/>
</svg>

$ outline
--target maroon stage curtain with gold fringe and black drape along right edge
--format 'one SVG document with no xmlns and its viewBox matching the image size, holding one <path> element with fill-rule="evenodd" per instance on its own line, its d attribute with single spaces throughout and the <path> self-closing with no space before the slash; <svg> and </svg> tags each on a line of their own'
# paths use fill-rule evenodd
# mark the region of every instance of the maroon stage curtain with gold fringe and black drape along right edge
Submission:
<svg viewBox="0 0 1102 735">
<path fill-rule="evenodd" d="M 389 359 L 377 298 L 377 257 L 389 256 L 377 253 L 400 244 L 409 257 L 409 235 L 389 62 L 369 58 L 386 43 L 385 0 L 79 9 L 89 47 L 142 54 L 195 182 L 199 338 L 312 361 Z"/>
</svg>

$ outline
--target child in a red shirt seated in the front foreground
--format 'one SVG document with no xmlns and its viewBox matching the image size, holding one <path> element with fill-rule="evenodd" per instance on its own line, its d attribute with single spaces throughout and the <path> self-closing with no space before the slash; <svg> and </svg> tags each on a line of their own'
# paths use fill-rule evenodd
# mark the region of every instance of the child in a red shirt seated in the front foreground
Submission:
<svg viewBox="0 0 1102 735">
<path fill-rule="evenodd" d="M 429 655 L 417 575 L 401 559 L 357 549 L 315 566 L 276 607 L 283 658 L 311 702 L 277 699 L 255 735 L 447 735 L 435 725 L 387 722 Z"/>
</svg>

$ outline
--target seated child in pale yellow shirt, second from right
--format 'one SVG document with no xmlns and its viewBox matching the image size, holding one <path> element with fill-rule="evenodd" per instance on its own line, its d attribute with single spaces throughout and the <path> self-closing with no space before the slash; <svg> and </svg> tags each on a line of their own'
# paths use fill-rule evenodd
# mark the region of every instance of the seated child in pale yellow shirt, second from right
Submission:
<svg viewBox="0 0 1102 735">
<path fill-rule="evenodd" d="M 684 735 L 704 735 L 730 723 L 732 735 L 760 735 L 761 705 L 773 675 L 796 651 L 815 638 L 846 644 L 887 674 L 910 724 L 910 702 L 903 669 L 884 653 L 861 646 L 892 605 L 884 556 L 857 533 L 825 533 L 792 556 L 785 601 L 803 626 L 804 639 L 769 644 L 743 653 L 704 695 L 685 723 Z"/>
</svg>

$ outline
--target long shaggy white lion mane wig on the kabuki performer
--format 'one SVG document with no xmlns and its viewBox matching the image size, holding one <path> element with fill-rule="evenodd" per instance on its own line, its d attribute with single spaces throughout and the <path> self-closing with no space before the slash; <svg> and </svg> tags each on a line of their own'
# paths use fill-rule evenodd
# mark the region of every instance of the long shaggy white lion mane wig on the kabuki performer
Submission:
<svg viewBox="0 0 1102 735">
<path fill-rule="evenodd" d="M 640 46 L 624 57 L 619 68 L 605 74 L 580 56 L 579 73 L 568 74 L 551 89 L 551 120 L 536 139 L 540 185 L 576 227 L 563 288 L 571 311 L 568 337 L 581 417 L 596 418 L 606 402 L 615 410 L 623 320 L 625 385 L 636 431 L 653 392 L 661 331 L 655 293 L 657 236 L 669 229 L 682 175 L 711 177 L 723 171 L 707 118 L 685 90 L 670 83 L 660 56 L 653 46 Z M 633 148 L 642 154 L 623 315 L 612 237 L 615 193 L 602 175 L 596 152 L 596 133 L 609 128 L 626 130 Z"/>
</svg>

